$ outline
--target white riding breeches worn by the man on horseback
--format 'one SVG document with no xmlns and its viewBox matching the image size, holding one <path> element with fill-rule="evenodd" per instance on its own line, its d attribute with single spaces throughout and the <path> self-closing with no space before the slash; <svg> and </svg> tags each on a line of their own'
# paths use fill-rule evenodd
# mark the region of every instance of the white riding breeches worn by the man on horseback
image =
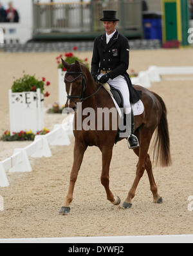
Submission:
<svg viewBox="0 0 193 256">
<path fill-rule="evenodd" d="M 98 80 L 100 77 L 102 77 L 104 74 L 98 75 Z M 125 80 L 123 75 L 118 75 L 118 77 L 115 77 L 114 79 L 109 79 L 107 81 L 108 84 L 113 86 L 115 89 L 120 90 L 120 93 L 122 94 L 122 97 L 124 99 L 124 113 L 128 114 L 131 112 L 131 104 L 129 101 L 129 88 L 127 85 L 127 81 Z"/>
</svg>

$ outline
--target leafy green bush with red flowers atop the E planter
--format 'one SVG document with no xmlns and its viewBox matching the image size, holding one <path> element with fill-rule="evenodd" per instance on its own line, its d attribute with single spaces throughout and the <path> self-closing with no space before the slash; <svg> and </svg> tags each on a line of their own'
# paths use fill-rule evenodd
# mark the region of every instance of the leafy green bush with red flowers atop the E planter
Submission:
<svg viewBox="0 0 193 256">
<path fill-rule="evenodd" d="M 41 94 L 43 94 L 45 86 L 50 86 L 50 82 L 46 81 L 45 77 L 39 80 L 35 78 L 35 75 L 24 74 L 23 77 L 14 81 L 12 92 L 36 92 L 39 88 Z M 44 93 L 44 97 L 48 97 L 49 95 L 49 92 Z"/>
</svg>

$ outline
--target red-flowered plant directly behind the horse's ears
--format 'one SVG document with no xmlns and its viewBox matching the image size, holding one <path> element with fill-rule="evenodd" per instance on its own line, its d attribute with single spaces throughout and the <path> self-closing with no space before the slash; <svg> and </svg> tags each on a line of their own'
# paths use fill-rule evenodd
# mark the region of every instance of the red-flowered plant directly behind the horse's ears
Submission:
<svg viewBox="0 0 193 256">
<path fill-rule="evenodd" d="M 73 50 L 76 51 L 77 47 L 73 47 Z M 87 68 L 89 69 L 89 63 L 87 63 L 87 58 L 85 58 L 84 60 L 79 59 L 77 56 L 75 56 L 72 52 L 66 52 L 64 55 L 60 54 L 59 56 L 56 57 L 57 60 L 57 64 L 58 64 L 58 68 L 61 68 L 63 71 L 66 71 L 66 68 L 64 68 L 62 66 L 62 62 L 61 62 L 61 58 L 65 57 L 64 61 L 66 61 L 69 64 L 75 63 L 75 61 L 79 61 L 80 63 L 83 63 L 87 66 Z"/>
</svg>

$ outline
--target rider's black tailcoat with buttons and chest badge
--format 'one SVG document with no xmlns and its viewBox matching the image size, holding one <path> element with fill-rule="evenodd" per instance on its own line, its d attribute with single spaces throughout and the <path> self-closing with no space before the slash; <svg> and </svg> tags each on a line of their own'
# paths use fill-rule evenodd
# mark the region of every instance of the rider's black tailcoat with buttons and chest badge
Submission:
<svg viewBox="0 0 193 256">
<path fill-rule="evenodd" d="M 128 68 L 129 42 L 124 35 L 116 30 L 108 44 L 106 44 L 106 33 L 95 38 L 91 74 L 97 75 L 100 70 L 111 70 L 108 73 L 111 79 L 124 75 L 129 87 L 130 102 L 136 103 L 141 98 L 141 92 L 133 88 L 129 74 L 127 74 Z"/>
</svg>

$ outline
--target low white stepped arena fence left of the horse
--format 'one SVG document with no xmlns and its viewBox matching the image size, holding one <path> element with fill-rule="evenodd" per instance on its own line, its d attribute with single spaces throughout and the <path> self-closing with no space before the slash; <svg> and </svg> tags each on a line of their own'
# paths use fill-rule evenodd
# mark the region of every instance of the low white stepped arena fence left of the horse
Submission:
<svg viewBox="0 0 193 256">
<path fill-rule="evenodd" d="M 0 187 L 9 186 L 6 170 L 9 172 L 31 172 L 28 157 L 51 157 L 50 145 L 68 146 L 73 134 L 73 114 L 69 114 L 62 124 L 55 124 L 53 131 L 46 135 L 36 135 L 33 143 L 25 148 L 15 148 L 14 154 L 0 162 Z"/>
</svg>

